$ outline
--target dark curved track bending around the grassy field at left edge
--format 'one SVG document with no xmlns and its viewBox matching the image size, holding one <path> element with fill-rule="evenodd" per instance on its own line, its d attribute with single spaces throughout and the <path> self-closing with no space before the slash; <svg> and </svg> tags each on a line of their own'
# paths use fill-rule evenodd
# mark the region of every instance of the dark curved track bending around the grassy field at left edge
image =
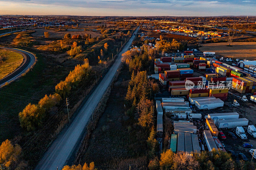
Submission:
<svg viewBox="0 0 256 170">
<path fill-rule="evenodd" d="M 11 81 L 16 80 L 23 73 L 25 73 L 36 62 L 36 56 L 28 51 L 17 49 L 17 48 L 5 48 L 5 47 L 0 47 L 0 48 L 14 51 L 16 53 L 20 53 L 24 57 L 24 61 L 20 65 L 20 67 L 18 67 L 12 73 L 8 74 L 7 76 L 5 76 L 0 80 L 0 87 L 1 87 L 2 85 L 5 85 L 5 83 L 9 83 Z"/>
</svg>

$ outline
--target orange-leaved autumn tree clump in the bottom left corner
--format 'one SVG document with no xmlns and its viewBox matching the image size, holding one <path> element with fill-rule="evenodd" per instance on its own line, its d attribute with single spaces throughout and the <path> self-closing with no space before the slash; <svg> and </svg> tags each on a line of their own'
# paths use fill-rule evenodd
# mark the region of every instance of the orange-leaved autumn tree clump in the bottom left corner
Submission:
<svg viewBox="0 0 256 170">
<path fill-rule="evenodd" d="M 17 161 L 20 152 L 20 145 L 15 144 L 15 146 L 13 146 L 11 142 L 8 139 L 6 139 L 0 145 L 0 164 L 4 165 L 8 169 L 11 169 L 11 165 Z"/>
</svg>

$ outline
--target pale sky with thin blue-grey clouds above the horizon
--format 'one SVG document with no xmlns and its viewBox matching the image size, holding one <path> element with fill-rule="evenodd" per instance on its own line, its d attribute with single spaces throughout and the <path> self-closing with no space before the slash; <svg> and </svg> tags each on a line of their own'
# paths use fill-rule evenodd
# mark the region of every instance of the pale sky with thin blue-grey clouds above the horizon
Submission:
<svg viewBox="0 0 256 170">
<path fill-rule="evenodd" d="M 256 16 L 256 0 L 0 0 L 0 14 Z"/>
</svg>

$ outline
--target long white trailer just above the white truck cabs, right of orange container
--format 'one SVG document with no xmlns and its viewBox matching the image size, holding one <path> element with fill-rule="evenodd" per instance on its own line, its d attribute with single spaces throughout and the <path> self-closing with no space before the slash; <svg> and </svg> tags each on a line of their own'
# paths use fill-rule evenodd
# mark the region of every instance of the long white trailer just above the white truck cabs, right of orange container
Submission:
<svg viewBox="0 0 256 170">
<path fill-rule="evenodd" d="M 238 119 L 225 119 L 225 120 L 216 120 L 215 125 L 219 129 L 229 129 L 236 128 L 237 126 L 247 126 L 248 119 L 238 118 Z"/>
</svg>

